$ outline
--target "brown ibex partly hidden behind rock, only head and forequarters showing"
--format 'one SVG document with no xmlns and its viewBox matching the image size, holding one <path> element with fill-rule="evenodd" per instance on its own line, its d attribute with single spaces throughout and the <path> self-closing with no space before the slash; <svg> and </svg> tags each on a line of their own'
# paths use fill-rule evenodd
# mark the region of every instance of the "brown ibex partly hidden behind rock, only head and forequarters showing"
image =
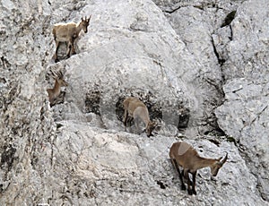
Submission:
<svg viewBox="0 0 269 206">
<path fill-rule="evenodd" d="M 64 80 L 64 75 L 62 72 L 56 72 L 53 74 L 55 76 L 54 88 L 47 90 L 50 107 L 55 105 L 55 101 L 61 93 L 61 87 L 68 86 L 67 82 Z"/>
</svg>

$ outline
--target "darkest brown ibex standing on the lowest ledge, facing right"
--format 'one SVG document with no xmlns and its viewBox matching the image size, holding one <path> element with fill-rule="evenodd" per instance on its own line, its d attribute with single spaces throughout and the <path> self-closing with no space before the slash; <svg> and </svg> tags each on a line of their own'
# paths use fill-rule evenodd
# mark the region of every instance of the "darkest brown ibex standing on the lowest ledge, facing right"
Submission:
<svg viewBox="0 0 269 206">
<path fill-rule="evenodd" d="M 177 169 L 179 178 L 181 180 L 181 189 L 186 190 L 186 185 L 183 181 L 183 176 L 187 180 L 187 193 L 196 194 L 195 191 L 195 176 L 197 169 L 203 167 L 210 167 L 212 176 L 217 176 L 219 169 L 228 159 L 228 153 L 224 159 L 206 159 L 199 156 L 197 151 L 189 145 L 187 142 L 176 142 L 170 148 L 169 156 L 173 166 Z M 182 172 L 180 172 L 179 167 L 183 167 Z M 191 183 L 188 174 L 191 173 L 193 176 L 193 181 Z M 192 185 L 192 189 L 190 187 Z"/>
</svg>

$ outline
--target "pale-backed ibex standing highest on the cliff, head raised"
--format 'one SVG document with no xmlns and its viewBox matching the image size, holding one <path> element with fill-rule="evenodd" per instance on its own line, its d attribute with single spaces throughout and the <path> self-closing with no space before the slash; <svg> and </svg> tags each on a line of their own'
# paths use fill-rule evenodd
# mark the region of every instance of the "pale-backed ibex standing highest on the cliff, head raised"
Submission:
<svg viewBox="0 0 269 206">
<path fill-rule="evenodd" d="M 87 33 L 87 28 L 89 26 L 91 20 L 91 16 L 89 19 L 85 17 L 85 20 L 80 21 L 79 23 L 69 22 L 69 23 L 57 23 L 54 25 L 52 33 L 56 42 L 56 53 L 55 53 L 55 62 L 58 62 L 57 51 L 59 48 L 60 42 L 68 42 L 68 49 L 66 56 L 70 57 L 70 55 L 75 54 L 74 49 L 74 40 L 78 38 L 81 30 L 84 30 Z"/>
</svg>

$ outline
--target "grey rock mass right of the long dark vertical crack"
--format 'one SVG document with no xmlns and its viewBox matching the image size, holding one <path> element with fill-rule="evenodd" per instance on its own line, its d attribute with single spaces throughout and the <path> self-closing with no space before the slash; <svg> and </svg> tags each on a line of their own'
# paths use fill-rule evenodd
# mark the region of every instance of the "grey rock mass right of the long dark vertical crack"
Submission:
<svg viewBox="0 0 269 206">
<path fill-rule="evenodd" d="M 269 21 L 269 5 L 263 0 L 255 4 L 256 1 L 244 2 L 230 23 L 230 31 L 217 31 L 215 44 L 227 60 L 222 72 L 229 81 L 224 85 L 225 102 L 217 108 L 216 116 L 221 129 L 239 143 L 248 167 L 258 179 L 257 188 L 268 201 L 269 35 L 265 22 Z"/>
</svg>

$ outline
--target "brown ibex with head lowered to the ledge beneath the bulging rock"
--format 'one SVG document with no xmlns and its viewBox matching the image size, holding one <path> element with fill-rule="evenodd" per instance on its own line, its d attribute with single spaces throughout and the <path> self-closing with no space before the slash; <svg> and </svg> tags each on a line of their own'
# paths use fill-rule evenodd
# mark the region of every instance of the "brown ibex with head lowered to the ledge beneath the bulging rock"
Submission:
<svg viewBox="0 0 269 206">
<path fill-rule="evenodd" d="M 148 137 L 152 136 L 152 131 L 156 127 L 156 123 L 152 122 L 149 116 L 148 108 L 143 104 L 143 102 L 137 98 L 129 97 L 123 101 L 123 106 L 125 108 L 124 124 L 126 126 L 128 116 L 134 118 L 134 124 L 136 130 L 139 130 L 138 120 L 141 119 L 145 124 L 145 132 Z"/>
</svg>

